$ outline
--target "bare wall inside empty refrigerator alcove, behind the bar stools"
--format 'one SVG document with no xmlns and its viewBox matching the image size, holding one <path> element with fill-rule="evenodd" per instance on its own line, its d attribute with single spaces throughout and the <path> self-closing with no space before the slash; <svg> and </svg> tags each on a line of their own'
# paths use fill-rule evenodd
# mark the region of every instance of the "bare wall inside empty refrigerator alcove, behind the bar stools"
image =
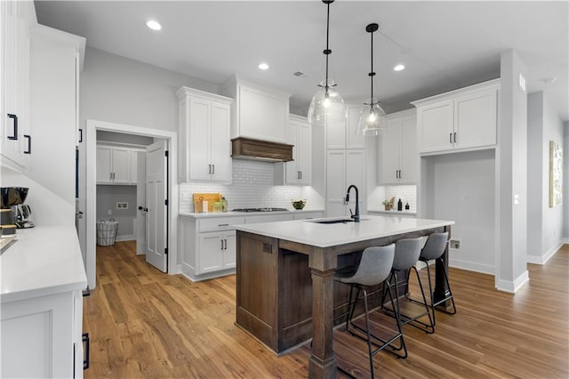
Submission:
<svg viewBox="0 0 569 379">
<path fill-rule="evenodd" d="M 428 204 L 422 217 L 453 220 L 451 239 L 461 241 L 451 249 L 449 264 L 466 270 L 494 273 L 494 167 L 493 149 L 421 157 L 427 178 Z"/>
</svg>

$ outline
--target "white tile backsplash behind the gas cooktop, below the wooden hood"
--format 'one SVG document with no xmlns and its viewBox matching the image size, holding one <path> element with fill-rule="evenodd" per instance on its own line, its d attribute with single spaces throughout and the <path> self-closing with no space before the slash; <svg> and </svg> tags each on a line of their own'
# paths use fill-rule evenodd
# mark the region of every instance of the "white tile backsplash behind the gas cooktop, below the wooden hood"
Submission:
<svg viewBox="0 0 569 379">
<path fill-rule="evenodd" d="M 275 164 L 233 159 L 230 185 L 215 183 L 180 184 L 180 213 L 194 212 L 195 192 L 220 192 L 228 200 L 229 210 L 274 206 L 293 209 L 291 199 L 302 198 L 302 188 L 274 185 Z"/>
</svg>

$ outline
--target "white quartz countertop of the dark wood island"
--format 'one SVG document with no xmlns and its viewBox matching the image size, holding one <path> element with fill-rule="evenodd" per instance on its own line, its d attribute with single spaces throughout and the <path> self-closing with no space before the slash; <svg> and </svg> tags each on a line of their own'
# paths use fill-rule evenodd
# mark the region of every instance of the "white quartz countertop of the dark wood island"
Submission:
<svg viewBox="0 0 569 379">
<path fill-rule="evenodd" d="M 371 214 L 363 214 L 360 222 L 317 223 L 319 220 L 334 219 L 349 219 L 349 217 L 241 224 L 236 225 L 236 230 L 285 239 L 310 246 L 328 247 L 454 224 L 453 221 Z"/>
</svg>

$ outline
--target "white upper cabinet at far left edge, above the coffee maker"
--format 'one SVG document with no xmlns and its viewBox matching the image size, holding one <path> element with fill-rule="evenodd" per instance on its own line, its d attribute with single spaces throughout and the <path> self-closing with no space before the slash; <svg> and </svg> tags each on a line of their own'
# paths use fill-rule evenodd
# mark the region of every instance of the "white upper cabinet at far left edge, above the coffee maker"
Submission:
<svg viewBox="0 0 569 379">
<path fill-rule="evenodd" d="M 28 166 L 31 149 L 29 123 L 29 28 L 35 24 L 32 2 L 0 3 L 2 78 L 0 149 L 15 167 Z M 7 163 L 7 162 L 6 162 Z"/>
</svg>

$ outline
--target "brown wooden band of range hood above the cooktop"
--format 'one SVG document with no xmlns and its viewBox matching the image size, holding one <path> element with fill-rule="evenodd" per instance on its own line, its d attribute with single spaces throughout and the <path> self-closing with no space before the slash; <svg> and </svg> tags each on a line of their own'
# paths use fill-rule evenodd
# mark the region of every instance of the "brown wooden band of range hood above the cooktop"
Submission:
<svg viewBox="0 0 569 379">
<path fill-rule="evenodd" d="M 293 145 L 236 137 L 231 140 L 231 157 L 262 160 L 266 162 L 289 162 L 293 160 Z"/>
</svg>

